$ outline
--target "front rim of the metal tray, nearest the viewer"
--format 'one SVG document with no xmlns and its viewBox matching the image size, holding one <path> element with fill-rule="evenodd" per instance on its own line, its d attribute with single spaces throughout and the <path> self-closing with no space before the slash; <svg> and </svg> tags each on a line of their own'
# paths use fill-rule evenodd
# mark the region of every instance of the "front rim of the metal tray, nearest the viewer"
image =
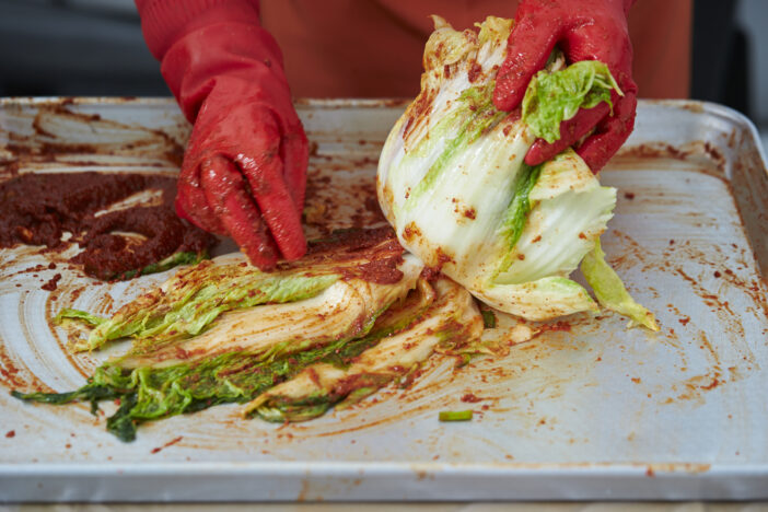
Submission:
<svg viewBox="0 0 768 512">
<path fill-rule="evenodd" d="M 502 485 L 504 490 L 494 491 L 490 499 L 746 501 L 768 498 L 768 465 L 729 464 L 697 470 L 671 469 L 663 464 L 587 465 L 542 467 L 535 473 L 504 464 L 440 463 L 161 463 L 150 468 L 137 463 L 113 466 L 98 463 L 68 472 L 61 470 L 63 463 L 34 468 L 5 466 L 0 465 L 0 489 L 5 488 L 0 502 L 475 501 L 488 500 L 489 489 Z M 265 479 L 265 475 L 269 478 Z M 485 485 L 461 486 L 466 479 Z M 585 481 L 595 480 L 602 485 L 584 486 Z M 38 481 L 45 481 L 62 496 L 42 499 L 31 493 Z M 206 485 L 202 490 L 189 491 L 190 481 Z M 251 487 L 242 487 L 246 484 Z M 93 485 L 103 487 L 93 489 Z M 109 489 L 110 485 L 118 489 Z M 136 493 L 139 486 L 141 492 Z M 226 498 L 207 493 L 211 487 L 224 488 Z M 557 489 L 555 494 L 552 489 Z M 188 498 L 179 500 L 175 497 L 178 493 Z"/>
</svg>

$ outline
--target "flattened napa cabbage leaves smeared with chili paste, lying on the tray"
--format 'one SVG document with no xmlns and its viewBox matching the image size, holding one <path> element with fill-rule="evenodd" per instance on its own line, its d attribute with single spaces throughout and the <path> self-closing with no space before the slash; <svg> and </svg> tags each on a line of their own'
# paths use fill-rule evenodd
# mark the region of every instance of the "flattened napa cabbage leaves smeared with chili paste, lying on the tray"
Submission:
<svg viewBox="0 0 768 512">
<path fill-rule="evenodd" d="M 398 249 L 396 254 L 403 251 Z M 90 402 L 94 411 L 100 402 L 117 399 L 120 407 L 107 418 L 107 430 L 131 441 L 146 421 L 251 402 L 312 365 L 345 368 L 382 339 L 407 331 L 411 323 L 431 314 L 433 296 L 408 299 L 423 267 L 416 256 L 396 258 L 400 278 L 394 282 L 368 281 L 348 271 L 365 265 L 370 252 L 354 257 L 354 251 L 339 251 L 336 256 L 330 264 L 323 258 L 306 261 L 307 257 L 270 275 L 242 257 L 217 258 L 178 271 L 110 318 L 67 310 L 62 318 L 93 327 L 89 339 L 98 341 L 94 348 L 131 337 L 130 349 L 105 361 L 79 389 L 12 395 L 47 404 Z M 464 293 L 463 301 L 457 296 L 446 307 L 457 311 L 469 296 Z M 481 324 L 479 313 L 476 316 L 474 324 Z M 333 406 L 327 404 L 326 409 Z M 306 415 L 296 412 L 296 418 Z"/>
</svg>

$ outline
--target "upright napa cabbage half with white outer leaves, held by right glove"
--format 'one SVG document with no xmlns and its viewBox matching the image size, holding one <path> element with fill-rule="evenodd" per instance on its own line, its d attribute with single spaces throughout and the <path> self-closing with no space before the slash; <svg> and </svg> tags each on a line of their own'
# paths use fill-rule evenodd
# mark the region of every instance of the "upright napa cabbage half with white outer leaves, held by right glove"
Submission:
<svg viewBox="0 0 768 512">
<path fill-rule="evenodd" d="M 507 113 L 492 93 L 512 21 L 490 16 L 479 31 L 458 32 L 433 19 L 421 92 L 379 163 L 379 200 L 400 243 L 484 302 L 534 321 L 598 311 L 569 278 L 592 254 L 587 282 L 603 306 L 615 309 L 603 298 L 629 294 L 620 279 L 618 293 L 616 279 L 600 278 L 609 267 L 595 248 L 616 189 L 602 186 L 571 149 L 535 167 L 524 162 L 536 138 L 559 139 L 560 123 L 579 108 L 621 94 L 608 68 L 567 67 L 556 51 L 531 81 L 522 113 Z M 614 292 L 598 292 L 608 282 Z M 620 312 L 655 328 L 640 305 Z"/>
</svg>

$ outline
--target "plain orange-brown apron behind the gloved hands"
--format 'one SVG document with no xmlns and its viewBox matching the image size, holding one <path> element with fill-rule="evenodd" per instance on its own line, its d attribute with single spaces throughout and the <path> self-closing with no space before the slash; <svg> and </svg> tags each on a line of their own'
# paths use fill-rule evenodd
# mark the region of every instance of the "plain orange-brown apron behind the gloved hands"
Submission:
<svg viewBox="0 0 768 512">
<path fill-rule="evenodd" d="M 414 97 L 429 14 L 466 28 L 492 14 L 514 18 L 513 0 L 261 0 L 264 26 L 286 58 L 291 90 L 304 97 Z M 640 97 L 687 97 L 691 0 L 637 0 L 629 12 Z"/>
</svg>

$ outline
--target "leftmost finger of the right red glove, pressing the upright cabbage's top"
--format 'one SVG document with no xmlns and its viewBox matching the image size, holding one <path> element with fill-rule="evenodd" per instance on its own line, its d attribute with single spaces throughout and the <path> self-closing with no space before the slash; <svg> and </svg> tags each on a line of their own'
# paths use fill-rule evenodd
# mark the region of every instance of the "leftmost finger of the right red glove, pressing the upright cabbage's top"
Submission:
<svg viewBox="0 0 768 512">
<path fill-rule="evenodd" d="M 507 58 L 496 75 L 493 104 L 512 110 L 523 101 L 525 89 L 536 72 L 547 63 L 562 36 L 560 18 L 536 2 L 521 2 L 515 23 L 507 40 Z"/>
</svg>

